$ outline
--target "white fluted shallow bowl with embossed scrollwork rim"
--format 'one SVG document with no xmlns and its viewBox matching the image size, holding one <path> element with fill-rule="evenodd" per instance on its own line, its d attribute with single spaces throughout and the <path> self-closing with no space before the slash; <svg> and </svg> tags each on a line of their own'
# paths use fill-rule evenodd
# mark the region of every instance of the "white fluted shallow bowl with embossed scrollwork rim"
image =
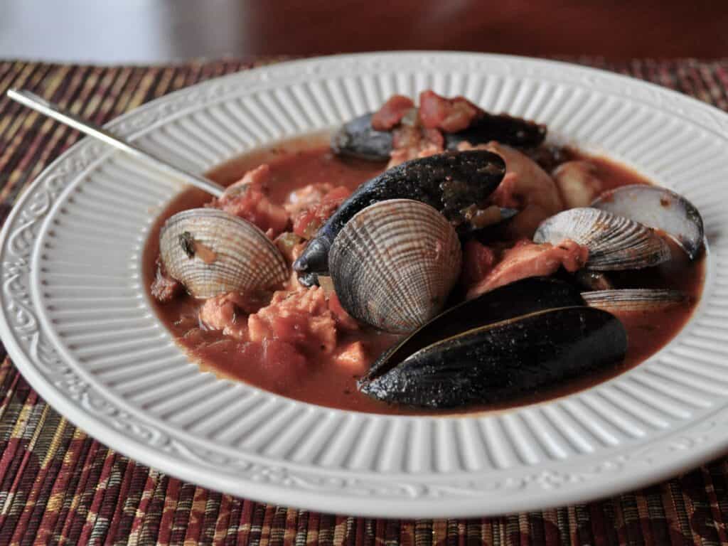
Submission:
<svg viewBox="0 0 728 546">
<path fill-rule="evenodd" d="M 409 417 L 299 403 L 202 373 L 154 316 L 141 250 L 181 188 L 100 143 L 68 150 L 1 236 L 0 333 L 23 375 L 108 446 L 253 499 L 336 513 L 475 516 L 582 502 L 728 446 L 728 115 L 624 76 L 545 60 L 387 53 L 258 68 L 154 100 L 109 128 L 202 173 L 432 88 L 546 123 L 697 205 L 705 292 L 637 368 L 499 414 Z"/>
</svg>

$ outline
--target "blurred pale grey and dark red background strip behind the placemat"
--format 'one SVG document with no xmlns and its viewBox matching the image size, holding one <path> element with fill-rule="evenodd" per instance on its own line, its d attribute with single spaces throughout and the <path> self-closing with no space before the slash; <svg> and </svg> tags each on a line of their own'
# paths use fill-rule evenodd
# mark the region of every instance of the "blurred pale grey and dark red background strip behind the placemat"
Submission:
<svg viewBox="0 0 728 546">
<path fill-rule="evenodd" d="M 168 63 L 373 50 L 728 57 L 725 0 L 0 0 L 0 58 Z"/>
</svg>

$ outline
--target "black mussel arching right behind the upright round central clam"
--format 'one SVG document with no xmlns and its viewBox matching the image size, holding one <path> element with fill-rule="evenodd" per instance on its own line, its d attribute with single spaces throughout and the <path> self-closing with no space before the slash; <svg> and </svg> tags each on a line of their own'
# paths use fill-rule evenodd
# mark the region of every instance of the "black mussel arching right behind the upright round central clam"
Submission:
<svg viewBox="0 0 728 546">
<path fill-rule="evenodd" d="M 416 199 L 467 231 L 472 226 L 463 211 L 483 203 L 504 174 L 503 159 L 484 150 L 450 151 L 397 165 L 359 186 L 321 226 L 293 269 L 309 279 L 311 273 L 328 272 L 329 249 L 341 228 L 364 207 L 386 199 Z"/>
</svg>

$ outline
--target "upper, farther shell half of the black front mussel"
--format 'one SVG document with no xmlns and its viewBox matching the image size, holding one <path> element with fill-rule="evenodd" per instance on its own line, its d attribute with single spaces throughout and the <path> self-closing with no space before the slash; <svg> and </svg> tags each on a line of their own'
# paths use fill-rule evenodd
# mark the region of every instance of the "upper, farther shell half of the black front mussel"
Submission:
<svg viewBox="0 0 728 546">
<path fill-rule="evenodd" d="M 529 277 L 480 294 L 438 314 L 381 355 L 360 383 L 393 368 L 428 345 L 459 333 L 546 309 L 584 305 L 579 290 L 550 277 Z"/>
</svg>

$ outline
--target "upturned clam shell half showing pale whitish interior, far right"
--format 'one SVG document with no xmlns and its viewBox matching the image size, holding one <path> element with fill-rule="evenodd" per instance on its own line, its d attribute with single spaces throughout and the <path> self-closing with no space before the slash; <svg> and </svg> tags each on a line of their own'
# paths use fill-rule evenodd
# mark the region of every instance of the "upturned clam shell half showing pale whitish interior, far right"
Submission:
<svg viewBox="0 0 728 546">
<path fill-rule="evenodd" d="M 622 186 L 602 194 L 591 206 L 662 230 L 691 260 L 703 249 L 703 218 L 691 202 L 674 191 L 646 184 Z"/>
</svg>

